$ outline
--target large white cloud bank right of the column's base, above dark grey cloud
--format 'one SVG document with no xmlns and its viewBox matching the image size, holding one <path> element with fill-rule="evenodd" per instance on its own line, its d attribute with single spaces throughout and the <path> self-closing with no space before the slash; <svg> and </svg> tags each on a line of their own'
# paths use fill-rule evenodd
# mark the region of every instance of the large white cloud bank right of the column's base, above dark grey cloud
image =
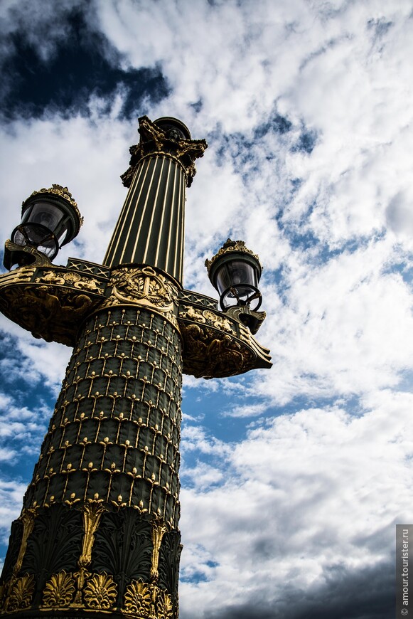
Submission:
<svg viewBox="0 0 413 619">
<path fill-rule="evenodd" d="M 311 591 L 335 565 L 380 564 L 395 522 L 409 519 L 412 403 L 388 391 L 361 416 L 332 407 L 269 420 L 222 459 L 225 485 L 183 490 L 186 578 L 205 557 L 216 566 L 208 581 L 181 586 L 183 618 L 206 617 L 204 608 L 215 616 L 223 601 L 252 601 L 262 587 L 266 599 L 282 599 L 291 578 Z"/>
</svg>

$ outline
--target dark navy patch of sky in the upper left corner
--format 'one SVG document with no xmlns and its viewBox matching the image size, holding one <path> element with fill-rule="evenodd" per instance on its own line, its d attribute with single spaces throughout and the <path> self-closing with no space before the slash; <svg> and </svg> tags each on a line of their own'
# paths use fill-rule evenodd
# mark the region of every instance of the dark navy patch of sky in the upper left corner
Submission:
<svg viewBox="0 0 413 619">
<path fill-rule="evenodd" d="M 8 120 L 41 117 L 45 110 L 63 116 L 87 115 L 92 95 L 102 100 L 102 112 L 109 112 L 119 94 L 123 99 L 120 116 L 138 117 L 149 103 L 168 95 L 159 65 L 127 68 L 122 55 L 92 28 L 93 19 L 82 7 L 60 15 L 62 33 L 58 40 L 52 37 L 48 52 L 21 21 L 17 23 L 20 27 L 4 33 L 2 45 L 0 100 Z M 42 27 L 45 37 L 53 31 L 47 18 Z"/>
</svg>

